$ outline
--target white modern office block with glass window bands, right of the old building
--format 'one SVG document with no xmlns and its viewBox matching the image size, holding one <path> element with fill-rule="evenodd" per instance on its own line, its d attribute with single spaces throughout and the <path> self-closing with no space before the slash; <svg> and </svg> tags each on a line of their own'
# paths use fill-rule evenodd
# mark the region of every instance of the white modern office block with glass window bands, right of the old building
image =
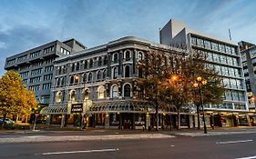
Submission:
<svg viewBox="0 0 256 159">
<path fill-rule="evenodd" d="M 172 19 L 160 30 L 160 43 L 206 53 L 207 66 L 214 67 L 223 76 L 226 87 L 223 103 L 204 105 L 208 124 L 210 115 L 215 125 L 250 124 L 240 49 L 236 43 L 190 30 L 185 23 Z"/>
</svg>

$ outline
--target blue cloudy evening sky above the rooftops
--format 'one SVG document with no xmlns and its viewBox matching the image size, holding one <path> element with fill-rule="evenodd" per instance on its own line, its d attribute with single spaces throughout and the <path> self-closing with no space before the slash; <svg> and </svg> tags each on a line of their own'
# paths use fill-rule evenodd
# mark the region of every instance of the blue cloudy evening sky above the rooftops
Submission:
<svg viewBox="0 0 256 159">
<path fill-rule="evenodd" d="M 159 43 L 169 19 L 207 35 L 256 43 L 253 0 L 1 0 L 0 75 L 5 58 L 75 38 L 88 48 L 122 36 Z"/>
</svg>

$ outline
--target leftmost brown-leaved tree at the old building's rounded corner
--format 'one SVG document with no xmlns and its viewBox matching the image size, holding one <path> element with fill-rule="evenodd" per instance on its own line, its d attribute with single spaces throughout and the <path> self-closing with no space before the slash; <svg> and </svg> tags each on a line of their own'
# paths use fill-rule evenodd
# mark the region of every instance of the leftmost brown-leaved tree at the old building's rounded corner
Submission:
<svg viewBox="0 0 256 159">
<path fill-rule="evenodd" d="M 161 83 L 166 79 L 168 70 L 167 58 L 159 50 L 145 54 L 145 58 L 138 63 L 138 87 L 144 92 L 142 97 L 155 106 L 157 130 L 159 130 L 159 96 L 162 90 Z"/>
</svg>

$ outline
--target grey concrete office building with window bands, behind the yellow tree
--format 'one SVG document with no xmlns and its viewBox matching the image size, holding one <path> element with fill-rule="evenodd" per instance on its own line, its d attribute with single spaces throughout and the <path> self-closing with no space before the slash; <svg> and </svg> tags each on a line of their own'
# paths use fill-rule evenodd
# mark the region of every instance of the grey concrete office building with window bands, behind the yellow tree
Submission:
<svg viewBox="0 0 256 159">
<path fill-rule="evenodd" d="M 86 49 L 75 39 L 65 42 L 54 41 L 40 45 L 23 53 L 12 55 L 5 60 L 5 70 L 20 73 L 27 88 L 35 91 L 39 104 L 49 104 L 53 78 L 53 61 L 60 56 Z"/>
</svg>

